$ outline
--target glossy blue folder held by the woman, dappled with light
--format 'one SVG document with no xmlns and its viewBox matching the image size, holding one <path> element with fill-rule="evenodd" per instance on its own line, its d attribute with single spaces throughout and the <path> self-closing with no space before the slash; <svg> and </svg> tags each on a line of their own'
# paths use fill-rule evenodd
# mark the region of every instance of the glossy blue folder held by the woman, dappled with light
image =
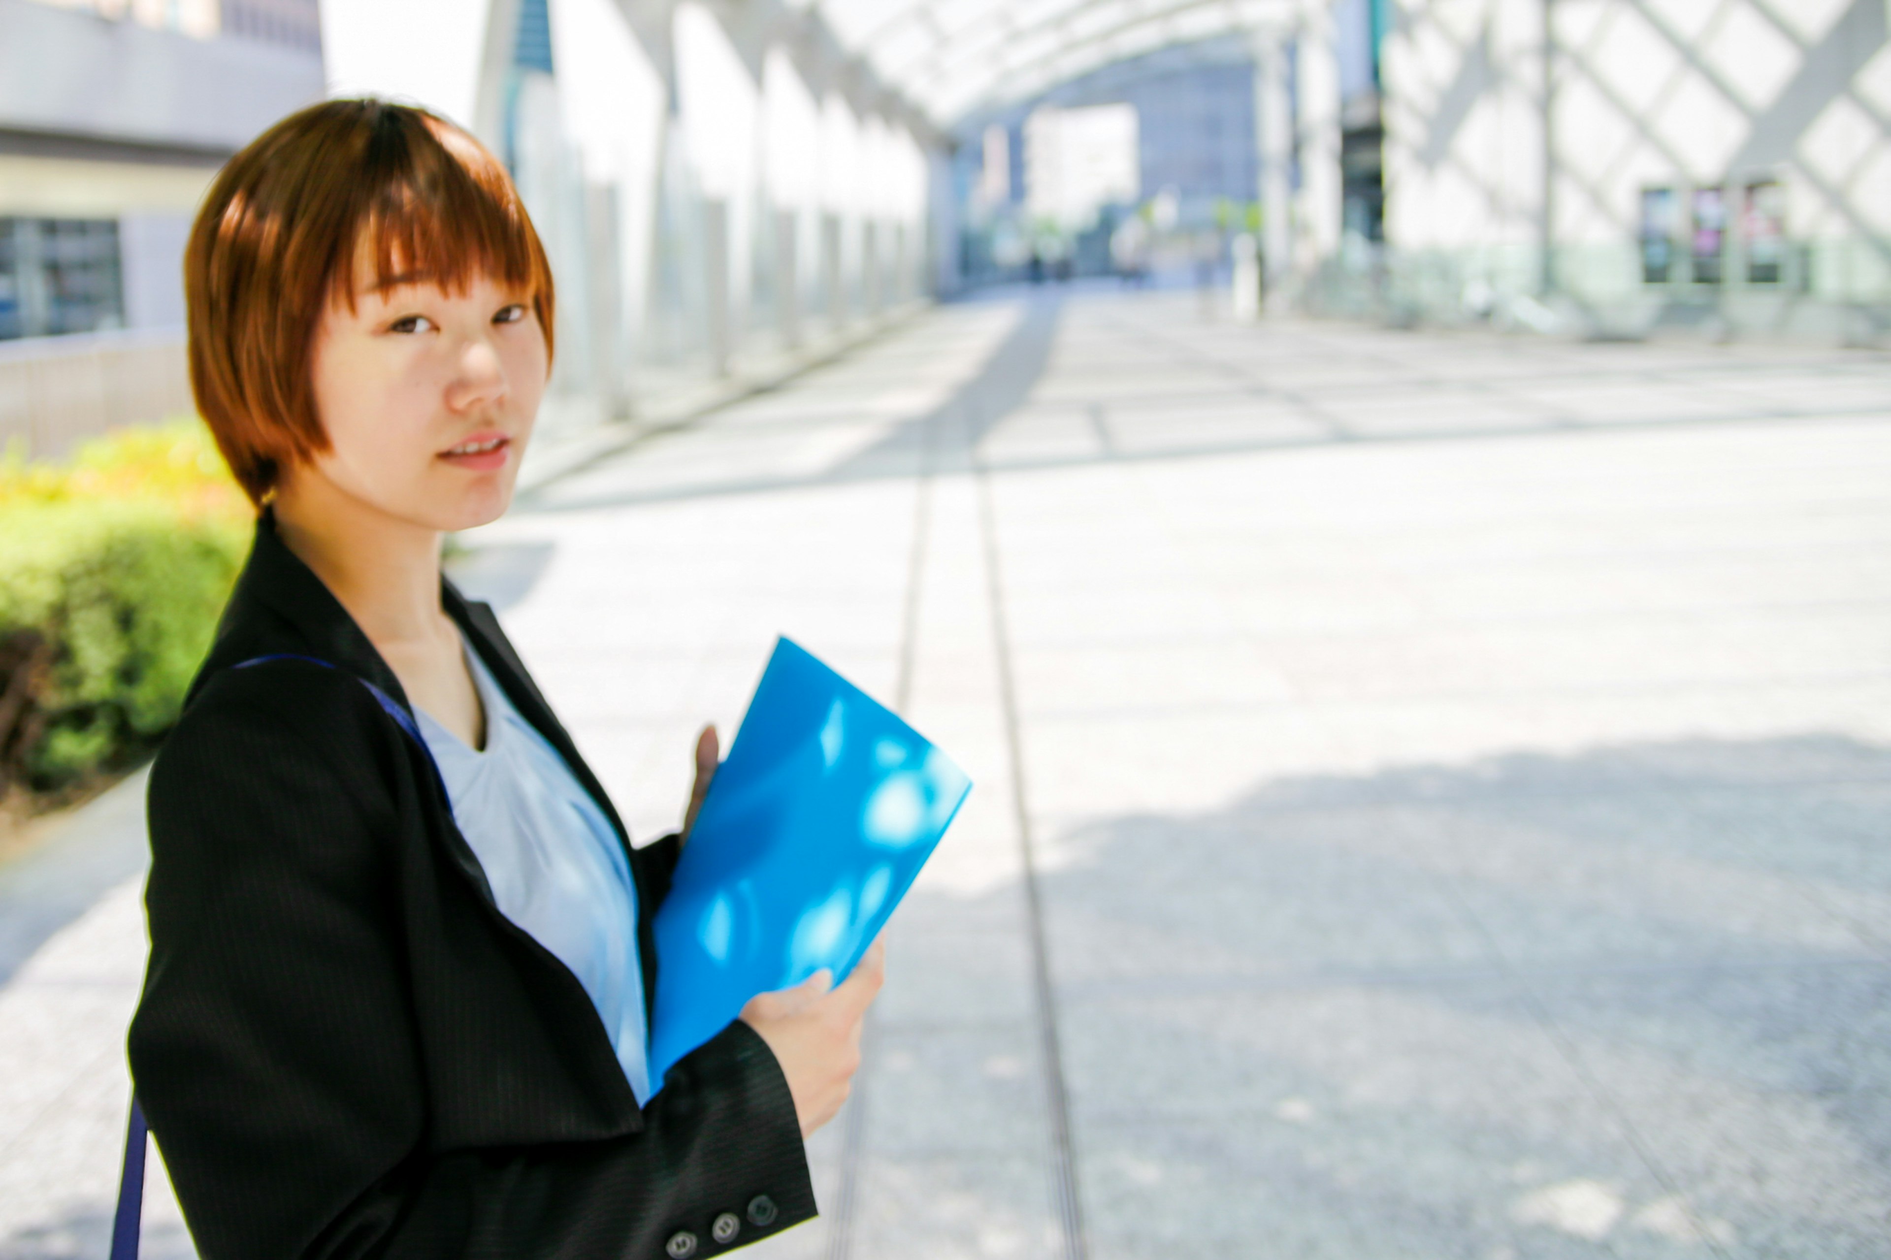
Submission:
<svg viewBox="0 0 1891 1260">
<path fill-rule="evenodd" d="M 970 791 L 946 753 L 779 639 L 656 912 L 651 1080 L 756 993 L 823 967 L 845 980 Z"/>
</svg>

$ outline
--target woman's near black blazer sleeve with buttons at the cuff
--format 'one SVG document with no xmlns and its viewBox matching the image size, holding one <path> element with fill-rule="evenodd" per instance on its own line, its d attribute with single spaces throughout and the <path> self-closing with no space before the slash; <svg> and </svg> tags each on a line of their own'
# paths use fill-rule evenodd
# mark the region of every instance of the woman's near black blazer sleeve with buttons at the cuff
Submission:
<svg viewBox="0 0 1891 1260">
<path fill-rule="evenodd" d="M 673 1069 L 637 1133 L 429 1150 L 399 776 L 376 761 L 399 736 L 344 675 L 259 683 L 214 679 L 149 789 L 130 1061 L 204 1260 L 656 1260 L 679 1230 L 726 1251 L 711 1220 L 732 1207 L 732 1245 L 813 1215 L 787 1080 L 741 1022 Z"/>
</svg>

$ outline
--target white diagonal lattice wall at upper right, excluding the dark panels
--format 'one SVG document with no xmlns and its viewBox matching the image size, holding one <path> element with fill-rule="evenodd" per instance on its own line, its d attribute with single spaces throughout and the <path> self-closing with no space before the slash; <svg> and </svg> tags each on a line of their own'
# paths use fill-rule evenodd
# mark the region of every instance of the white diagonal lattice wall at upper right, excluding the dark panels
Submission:
<svg viewBox="0 0 1891 1260">
<path fill-rule="evenodd" d="M 1725 189 L 1738 259 L 1747 185 L 1778 182 L 1804 259 L 1793 288 L 1891 295 L 1882 0 L 1414 0 L 1384 74 L 1397 248 L 1498 288 L 1630 303 L 1643 189 Z"/>
</svg>

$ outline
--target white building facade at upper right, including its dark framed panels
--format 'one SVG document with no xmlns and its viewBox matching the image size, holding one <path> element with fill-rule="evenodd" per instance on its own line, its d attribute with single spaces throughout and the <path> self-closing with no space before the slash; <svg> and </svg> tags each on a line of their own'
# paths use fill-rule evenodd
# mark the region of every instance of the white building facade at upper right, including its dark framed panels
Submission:
<svg viewBox="0 0 1891 1260">
<path fill-rule="evenodd" d="M 1891 327 L 1883 0 L 1403 0 L 1396 299 L 1604 335 Z"/>
</svg>

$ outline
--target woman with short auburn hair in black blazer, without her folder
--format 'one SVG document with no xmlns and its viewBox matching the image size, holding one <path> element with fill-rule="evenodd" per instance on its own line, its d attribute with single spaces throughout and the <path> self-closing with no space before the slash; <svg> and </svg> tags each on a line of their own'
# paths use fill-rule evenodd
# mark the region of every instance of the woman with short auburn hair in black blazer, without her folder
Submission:
<svg viewBox="0 0 1891 1260">
<path fill-rule="evenodd" d="M 149 789 L 130 1061 L 200 1254 L 683 1260 L 811 1216 L 802 1143 L 877 946 L 649 1080 L 683 836 L 630 846 L 441 577 L 441 535 L 505 511 L 550 367 L 505 170 L 425 112 L 314 106 L 221 172 L 185 289 L 199 407 L 259 507 Z M 696 802 L 715 757 L 705 730 Z"/>
</svg>

